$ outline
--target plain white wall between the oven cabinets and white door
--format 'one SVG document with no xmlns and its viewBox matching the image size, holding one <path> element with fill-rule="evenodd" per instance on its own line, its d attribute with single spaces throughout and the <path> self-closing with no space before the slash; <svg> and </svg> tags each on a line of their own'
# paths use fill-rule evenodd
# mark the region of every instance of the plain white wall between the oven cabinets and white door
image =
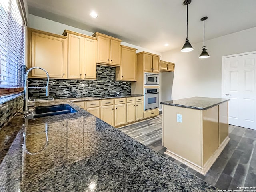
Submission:
<svg viewBox="0 0 256 192">
<path fill-rule="evenodd" d="M 199 59 L 203 43 L 192 52 L 179 49 L 162 53 L 162 60 L 174 62 L 174 74 L 162 74 L 162 101 L 193 96 L 221 96 L 221 57 L 256 50 L 256 27 L 205 42 L 210 58 Z M 192 39 L 192 37 L 190 37 Z"/>
</svg>

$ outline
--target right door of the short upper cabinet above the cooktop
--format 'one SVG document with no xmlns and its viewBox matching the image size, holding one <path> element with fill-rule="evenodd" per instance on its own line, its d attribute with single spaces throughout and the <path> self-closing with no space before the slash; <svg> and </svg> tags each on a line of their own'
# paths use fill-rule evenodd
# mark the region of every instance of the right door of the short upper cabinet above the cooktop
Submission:
<svg viewBox="0 0 256 192">
<path fill-rule="evenodd" d="M 110 39 L 110 64 L 120 65 L 121 42 Z"/>
</svg>

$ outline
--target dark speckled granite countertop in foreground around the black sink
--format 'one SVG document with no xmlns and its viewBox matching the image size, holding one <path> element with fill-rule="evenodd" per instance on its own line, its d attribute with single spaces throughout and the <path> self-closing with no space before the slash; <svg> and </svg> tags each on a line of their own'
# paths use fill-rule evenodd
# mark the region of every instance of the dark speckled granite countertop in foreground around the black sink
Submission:
<svg viewBox="0 0 256 192">
<path fill-rule="evenodd" d="M 78 112 L 35 120 L 16 115 L 0 130 L 1 148 L 13 138 L 0 164 L 0 191 L 217 191 L 68 99 L 50 103 Z"/>
</svg>

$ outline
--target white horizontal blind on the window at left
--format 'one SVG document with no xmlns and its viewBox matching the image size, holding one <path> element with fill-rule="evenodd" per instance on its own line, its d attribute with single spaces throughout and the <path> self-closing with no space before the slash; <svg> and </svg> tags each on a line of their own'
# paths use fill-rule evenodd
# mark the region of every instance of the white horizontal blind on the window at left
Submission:
<svg viewBox="0 0 256 192">
<path fill-rule="evenodd" d="M 25 24 L 18 0 L 0 0 L 0 94 L 23 87 Z"/>
</svg>

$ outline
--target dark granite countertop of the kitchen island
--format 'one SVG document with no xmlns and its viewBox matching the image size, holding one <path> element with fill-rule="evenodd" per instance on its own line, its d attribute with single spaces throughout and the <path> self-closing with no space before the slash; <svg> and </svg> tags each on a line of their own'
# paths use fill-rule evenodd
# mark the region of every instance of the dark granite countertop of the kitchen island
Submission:
<svg viewBox="0 0 256 192">
<path fill-rule="evenodd" d="M 191 97 L 191 98 L 178 99 L 178 100 L 172 100 L 172 101 L 164 101 L 164 102 L 161 102 L 161 104 L 191 108 L 191 109 L 206 110 L 220 103 L 227 102 L 229 100 L 230 99 L 224 99 L 224 98 Z"/>
</svg>

